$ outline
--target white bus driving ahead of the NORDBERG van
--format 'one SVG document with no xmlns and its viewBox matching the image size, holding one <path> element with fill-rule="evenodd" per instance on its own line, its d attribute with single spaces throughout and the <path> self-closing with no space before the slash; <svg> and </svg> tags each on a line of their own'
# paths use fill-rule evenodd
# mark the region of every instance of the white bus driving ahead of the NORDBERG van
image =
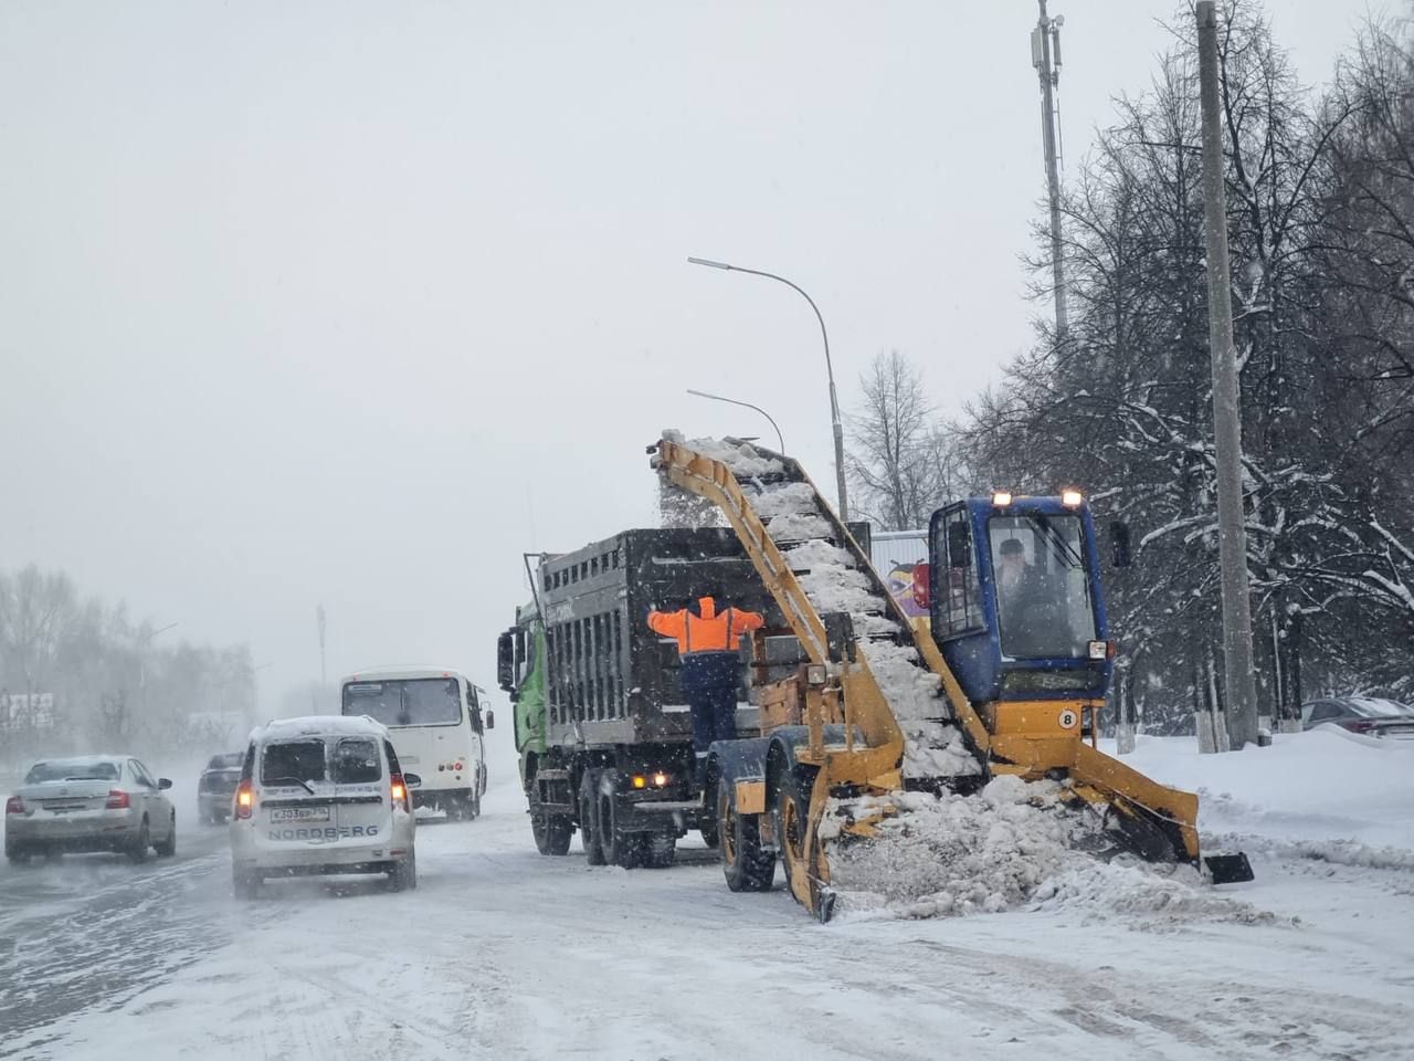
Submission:
<svg viewBox="0 0 1414 1061">
<path fill-rule="evenodd" d="M 387 727 L 399 764 L 421 778 L 416 806 L 475 818 L 486 792 L 484 730 L 495 723 L 486 692 L 458 671 L 382 666 L 342 682 L 344 714 L 368 714 Z"/>
</svg>

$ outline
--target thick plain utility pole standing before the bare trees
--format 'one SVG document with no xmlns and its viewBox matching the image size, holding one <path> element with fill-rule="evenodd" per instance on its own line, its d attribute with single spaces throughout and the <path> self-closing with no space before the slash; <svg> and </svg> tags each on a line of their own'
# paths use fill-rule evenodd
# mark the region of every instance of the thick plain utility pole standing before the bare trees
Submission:
<svg viewBox="0 0 1414 1061">
<path fill-rule="evenodd" d="M 1227 263 L 1227 199 L 1223 130 L 1217 99 L 1217 13 L 1198 4 L 1198 81 L 1203 110 L 1203 233 L 1208 250 L 1208 342 L 1213 359 L 1213 443 L 1217 461 L 1217 556 L 1222 564 L 1223 663 L 1232 746 L 1257 743 L 1251 597 L 1247 590 L 1247 528 L 1241 488 L 1241 413 L 1233 349 L 1232 276 Z"/>
</svg>

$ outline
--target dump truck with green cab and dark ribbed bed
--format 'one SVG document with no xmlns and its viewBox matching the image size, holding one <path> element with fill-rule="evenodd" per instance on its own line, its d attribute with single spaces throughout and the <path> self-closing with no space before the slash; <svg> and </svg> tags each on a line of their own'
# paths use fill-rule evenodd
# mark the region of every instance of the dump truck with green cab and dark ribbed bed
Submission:
<svg viewBox="0 0 1414 1061">
<path fill-rule="evenodd" d="M 696 785 L 677 651 L 646 624 L 653 605 L 714 590 L 783 620 L 730 528 L 635 529 L 571 553 L 526 557 L 532 600 L 498 641 L 513 702 L 520 779 L 542 854 L 578 832 L 591 864 L 666 866 L 715 808 Z M 737 727 L 759 734 L 740 692 Z"/>
</svg>

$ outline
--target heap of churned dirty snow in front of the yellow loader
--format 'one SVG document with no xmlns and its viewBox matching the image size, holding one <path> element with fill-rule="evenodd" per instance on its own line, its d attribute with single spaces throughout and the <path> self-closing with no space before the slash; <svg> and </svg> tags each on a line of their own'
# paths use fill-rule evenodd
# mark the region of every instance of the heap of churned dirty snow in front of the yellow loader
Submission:
<svg viewBox="0 0 1414 1061">
<path fill-rule="evenodd" d="M 820 837 L 841 912 L 946 917 L 1021 905 L 1046 880 L 1087 862 L 1075 845 L 1097 832 L 1099 819 L 1066 809 L 1060 795 L 1055 782 L 1004 775 L 970 796 L 831 799 Z M 881 811 L 892 813 L 875 837 L 841 833 L 847 821 Z"/>
</svg>

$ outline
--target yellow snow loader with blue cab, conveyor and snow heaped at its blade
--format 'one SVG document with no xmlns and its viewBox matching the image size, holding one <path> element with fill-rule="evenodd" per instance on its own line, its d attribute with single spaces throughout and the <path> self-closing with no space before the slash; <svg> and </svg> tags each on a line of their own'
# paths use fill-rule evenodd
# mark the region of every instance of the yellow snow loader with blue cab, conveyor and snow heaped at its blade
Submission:
<svg viewBox="0 0 1414 1061">
<path fill-rule="evenodd" d="M 793 458 L 674 433 L 649 454 L 725 515 L 785 615 L 778 634 L 799 642 L 792 676 L 758 682 L 772 631 L 752 635 L 759 736 L 708 754 L 734 891 L 772 887 L 778 856 L 820 921 L 841 898 L 923 917 L 1000 908 L 998 873 L 1025 895 L 1038 867 L 1118 853 L 1251 880 L 1244 854 L 1202 856 L 1196 795 L 1097 748 L 1114 645 L 1077 492 L 935 512 L 928 615 L 911 620 Z"/>
</svg>

